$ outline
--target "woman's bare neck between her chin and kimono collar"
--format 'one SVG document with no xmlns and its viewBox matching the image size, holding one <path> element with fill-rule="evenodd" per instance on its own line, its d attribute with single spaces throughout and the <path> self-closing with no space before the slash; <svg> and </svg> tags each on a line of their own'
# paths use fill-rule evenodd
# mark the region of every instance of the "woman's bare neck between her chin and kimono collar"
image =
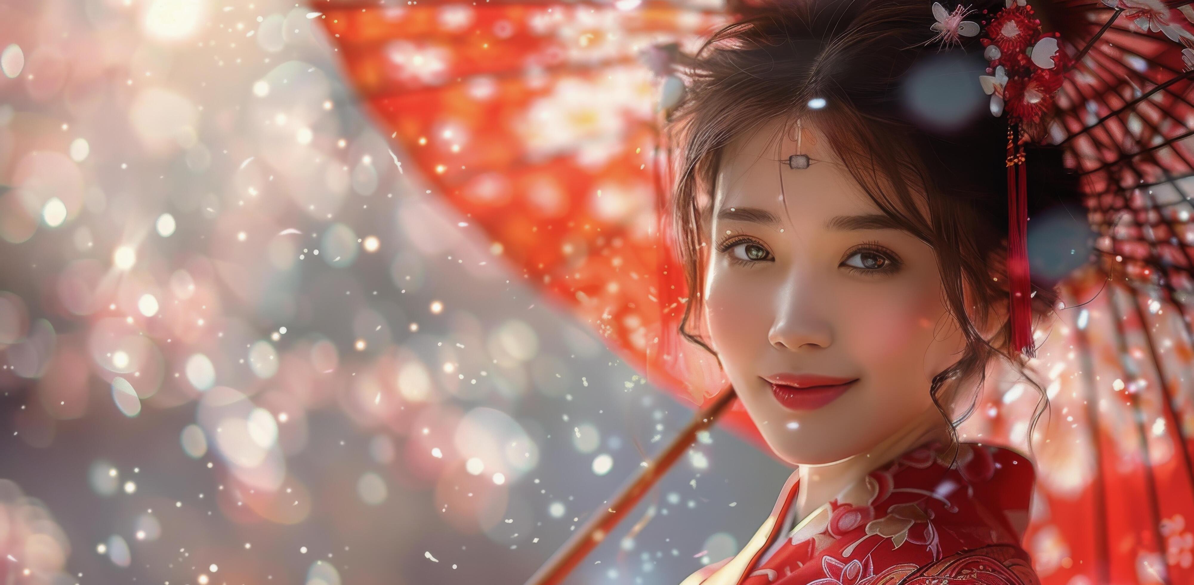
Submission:
<svg viewBox="0 0 1194 585">
<path fill-rule="evenodd" d="M 868 473 L 933 439 L 940 439 L 943 444 L 952 441 L 949 427 L 936 408 L 925 411 L 903 430 L 866 452 L 823 466 L 800 466 L 800 493 L 795 501 L 798 518 L 807 517 Z"/>
</svg>

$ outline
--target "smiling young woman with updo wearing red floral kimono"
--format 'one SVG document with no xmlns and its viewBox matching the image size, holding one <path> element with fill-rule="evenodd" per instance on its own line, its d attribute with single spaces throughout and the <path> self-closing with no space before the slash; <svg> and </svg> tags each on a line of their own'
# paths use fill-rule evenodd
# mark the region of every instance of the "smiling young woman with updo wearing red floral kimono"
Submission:
<svg viewBox="0 0 1194 585">
<path fill-rule="evenodd" d="M 741 552 L 684 585 L 1038 583 L 1032 463 L 955 432 L 987 367 L 1026 365 L 1008 121 L 979 81 L 977 21 L 1004 6 L 944 6 L 943 26 L 927 0 L 788 0 L 687 63 L 667 127 L 700 291 L 682 331 L 796 470 Z M 1034 205 L 1078 201 L 1059 152 L 1027 158 Z M 1034 288 L 1034 315 L 1055 301 Z"/>
</svg>

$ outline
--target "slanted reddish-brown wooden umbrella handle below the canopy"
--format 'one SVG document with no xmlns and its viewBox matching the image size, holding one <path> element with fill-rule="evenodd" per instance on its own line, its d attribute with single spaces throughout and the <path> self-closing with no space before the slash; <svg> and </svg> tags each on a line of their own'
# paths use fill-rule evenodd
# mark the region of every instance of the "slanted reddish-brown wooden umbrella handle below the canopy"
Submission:
<svg viewBox="0 0 1194 585">
<path fill-rule="evenodd" d="M 527 585 L 556 585 L 572 572 L 580 560 L 585 558 L 601 541 L 605 540 L 610 530 L 638 505 L 639 500 L 646 495 L 656 482 L 663 478 L 671 466 L 679 460 L 679 456 L 696 439 L 696 433 L 713 426 L 713 423 L 725 413 L 734 400 L 734 389 L 726 387 L 704 408 L 697 411 L 693 420 L 689 420 L 684 430 L 672 439 L 672 442 L 653 461 L 641 468 L 638 475 L 630 478 L 608 506 L 602 506 L 589 521 L 577 530 L 576 534 L 564 543 L 550 559 L 535 572 L 527 581 Z"/>
</svg>

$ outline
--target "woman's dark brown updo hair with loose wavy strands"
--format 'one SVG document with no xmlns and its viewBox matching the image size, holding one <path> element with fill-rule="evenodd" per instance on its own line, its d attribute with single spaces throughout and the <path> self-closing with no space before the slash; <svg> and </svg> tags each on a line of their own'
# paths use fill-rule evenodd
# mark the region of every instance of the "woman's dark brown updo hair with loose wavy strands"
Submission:
<svg viewBox="0 0 1194 585">
<path fill-rule="evenodd" d="M 677 74 L 687 92 L 669 112 L 664 131 L 678 150 L 672 217 L 693 298 L 681 333 L 715 355 L 702 339 L 701 324 L 690 318 L 702 308 L 701 251 L 712 235 L 713 187 L 725 147 L 776 118 L 788 128 L 799 117 L 821 130 L 884 214 L 935 251 L 946 304 L 966 338 L 962 357 L 930 387 L 956 441 L 956 426 L 977 406 L 989 362 L 1002 357 L 1023 374 L 1026 361 L 1010 349 L 1005 309 L 1008 123 L 991 115 L 990 98 L 980 90 L 986 61 L 978 37 L 962 37 L 947 49 L 925 43 L 936 21 L 930 7 L 929 0 L 757 5 L 718 30 L 694 56 L 682 56 Z M 979 0 L 967 20 L 990 18 L 1002 7 L 1003 0 Z M 824 106 L 810 107 L 814 98 L 824 99 Z M 1059 148 L 1029 146 L 1027 170 L 1029 214 L 1058 201 L 1081 201 L 1076 174 L 1066 170 Z M 1033 290 L 1039 322 L 1053 310 L 1058 294 L 1039 282 Z M 1004 325 L 986 339 L 975 322 L 992 318 Z M 1028 430 L 1032 449 L 1047 399 L 1024 377 L 1041 396 Z M 968 407 L 952 420 L 938 394 L 956 380 L 954 404 L 958 386 L 975 378 Z"/>
</svg>

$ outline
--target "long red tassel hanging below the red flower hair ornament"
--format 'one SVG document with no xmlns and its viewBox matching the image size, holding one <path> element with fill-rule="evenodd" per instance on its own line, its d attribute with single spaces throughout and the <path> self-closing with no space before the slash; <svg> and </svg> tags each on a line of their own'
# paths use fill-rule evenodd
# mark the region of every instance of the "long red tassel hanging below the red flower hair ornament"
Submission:
<svg viewBox="0 0 1194 585">
<path fill-rule="evenodd" d="M 1032 278 L 1028 273 L 1028 174 L 1018 127 L 1008 128 L 1008 289 L 1011 347 L 1036 357 L 1032 330 Z"/>
</svg>

